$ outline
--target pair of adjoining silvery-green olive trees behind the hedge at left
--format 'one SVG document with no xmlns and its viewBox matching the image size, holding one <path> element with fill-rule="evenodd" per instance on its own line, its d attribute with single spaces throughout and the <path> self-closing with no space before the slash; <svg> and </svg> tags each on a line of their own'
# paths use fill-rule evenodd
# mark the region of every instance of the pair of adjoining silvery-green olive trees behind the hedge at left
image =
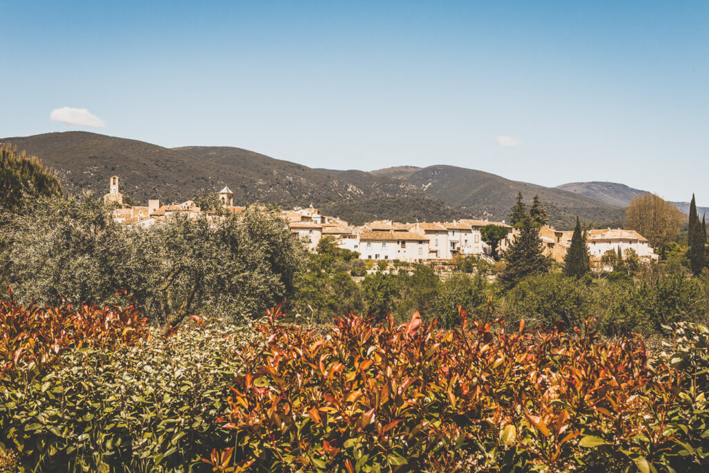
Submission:
<svg viewBox="0 0 709 473">
<path fill-rule="evenodd" d="M 288 299 L 305 250 L 277 208 L 148 229 L 113 222 L 90 194 L 26 202 L 6 216 L 3 274 L 23 301 L 113 304 L 128 296 L 155 322 L 188 313 L 245 320 Z"/>
</svg>

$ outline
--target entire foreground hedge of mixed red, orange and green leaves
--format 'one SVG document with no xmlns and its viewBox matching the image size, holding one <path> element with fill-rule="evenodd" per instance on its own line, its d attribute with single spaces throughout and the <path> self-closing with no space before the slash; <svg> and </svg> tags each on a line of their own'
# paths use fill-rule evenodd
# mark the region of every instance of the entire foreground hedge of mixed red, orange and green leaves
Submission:
<svg viewBox="0 0 709 473">
<path fill-rule="evenodd" d="M 702 471 L 709 329 L 639 337 L 357 316 L 312 330 L 0 304 L 10 471 Z M 470 325 L 470 326 L 469 326 Z"/>
</svg>

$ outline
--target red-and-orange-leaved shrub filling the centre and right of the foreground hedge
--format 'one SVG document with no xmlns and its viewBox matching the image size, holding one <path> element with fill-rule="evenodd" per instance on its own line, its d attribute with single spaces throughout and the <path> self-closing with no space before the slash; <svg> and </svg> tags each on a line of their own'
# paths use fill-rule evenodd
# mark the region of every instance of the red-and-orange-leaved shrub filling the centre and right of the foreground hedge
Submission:
<svg viewBox="0 0 709 473">
<path fill-rule="evenodd" d="M 707 462 L 706 424 L 682 423 L 682 399 L 704 403 L 704 394 L 682 394 L 691 382 L 674 362 L 648 365 L 640 338 L 600 343 L 589 325 L 530 333 L 497 322 L 441 331 L 418 314 L 400 326 L 350 316 L 325 336 L 260 325 L 269 349 L 242 352 L 247 373 L 229 399 L 235 447 L 205 461 L 350 473 L 688 471 Z"/>
</svg>

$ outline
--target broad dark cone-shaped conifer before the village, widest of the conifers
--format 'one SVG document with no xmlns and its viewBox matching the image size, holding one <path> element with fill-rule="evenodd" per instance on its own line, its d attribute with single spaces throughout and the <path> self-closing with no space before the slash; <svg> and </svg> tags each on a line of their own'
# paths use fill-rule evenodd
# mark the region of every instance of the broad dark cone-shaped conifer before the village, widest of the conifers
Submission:
<svg viewBox="0 0 709 473">
<path fill-rule="evenodd" d="M 544 244 L 539 238 L 539 227 L 528 213 L 519 226 L 519 234 L 505 252 L 507 266 L 500 274 L 500 282 L 511 289 L 524 277 L 549 271 L 551 263 L 542 255 Z"/>
</svg>

